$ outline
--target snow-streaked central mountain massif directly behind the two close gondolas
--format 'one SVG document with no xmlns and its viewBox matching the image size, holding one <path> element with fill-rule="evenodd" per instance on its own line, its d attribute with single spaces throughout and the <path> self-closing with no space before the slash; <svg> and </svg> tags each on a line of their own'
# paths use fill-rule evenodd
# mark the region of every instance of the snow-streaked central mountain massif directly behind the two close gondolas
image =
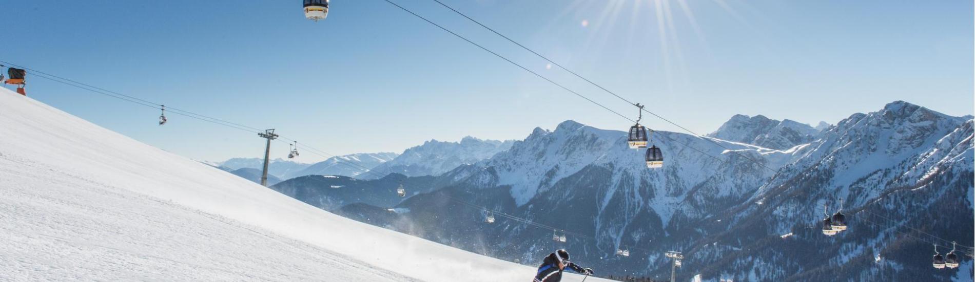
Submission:
<svg viewBox="0 0 975 282">
<path fill-rule="evenodd" d="M 442 193 L 539 223 L 592 234 L 596 241 L 577 238 L 565 247 L 583 258 L 598 258 L 620 246 L 646 246 L 651 240 L 666 238 L 668 232 L 681 233 L 688 225 L 751 196 L 772 171 L 744 158 L 773 169 L 794 158 L 790 152 L 666 131 L 654 132 L 651 143 L 663 150 L 663 168 L 647 168 L 645 150 L 628 149 L 622 130 L 572 121 L 552 131 L 536 128 L 510 150 L 442 175 L 440 180 L 448 182 Z M 538 238 L 551 236 L 551 229 L 526 228 L 512 222 L 485 227 L 477 220 L 483 215 L 463 206 L 439 204 L 443 201 L 440 194 L 420 194 L 399 206 L 413 211 L 405 215 L 407 218 L 413 213 L 450 213 L 437 224 L 449 223 L 450 229 L 479 229 L 498 241 L 472 242 L 464 234 L 440 233 L 438 238 L 459 245 L 505 242 L 504 249 L 491 251 L 499 257 L 531 260 L 525 250 L 550 247 L 550 241 Z M 413 228 L 403 227 L 419 233 L 439 229 Z M 605 263 L 599 266 L 614 271 L 637 265 L 635 261 Z"/>
</svg>

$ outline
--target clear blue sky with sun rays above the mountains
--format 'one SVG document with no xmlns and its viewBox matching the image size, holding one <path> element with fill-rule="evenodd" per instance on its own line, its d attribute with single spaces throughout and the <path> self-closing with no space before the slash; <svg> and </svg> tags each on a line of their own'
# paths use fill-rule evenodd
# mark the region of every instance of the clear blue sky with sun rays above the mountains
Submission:
<svg viewBox="0 0 975 282">
<path fill-rule="evenodd" d="M 734 114 L 836 123 L 893 100 L 955 116 L 975 104 L 972 1 L 443 1 L 698 133 Z M 296 0 L 0 2 L 2 60 L 332 154 L 630 125 L 381 0 L 334 0 L 320 22 Z M 431 0 L 396 2 L 636 114 Z M 186 157 L 262 155 L 254 133 L 179 116 L 157 126 L 158 111 L 28 80 L 35 99 Z"/>
</svg>

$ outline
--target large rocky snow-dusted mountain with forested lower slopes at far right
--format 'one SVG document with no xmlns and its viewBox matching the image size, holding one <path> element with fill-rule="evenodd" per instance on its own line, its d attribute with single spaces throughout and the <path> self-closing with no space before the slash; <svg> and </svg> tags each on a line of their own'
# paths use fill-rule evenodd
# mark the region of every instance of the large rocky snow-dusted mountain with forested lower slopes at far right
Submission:
<svg viewBox="0 0 975 282">
<path fill-rule="evenodd" d="M 951 273 L 931 268 L 929 243 L 904 232 L 920 229 L 972 244 L 973 123 L 903 101 L 851 115 L 796 150 L 800 158 L 725 218 L 727 231 L 712 239 L 761 242 L 767 234 L 796 232 L 798 241 L 765 240 L 746 244 L 746 251 L 698 247 L 690 264 L 735 277 L 757 271 L 770 280 L 946 280 Z M 839 198 L 849 229 L 833 238 L 809 229 L 824 204 L 839 209 Z M 825 263 L 790 254 L 804 253 L 803 246 L 815 248 L 811 254 Z M 872 259 L 877 254 L 885 257 L 882 264 Z M 761 261 L 777 266 L 754 263 Z M 850 270 L 838 278 L 837 264 Z M 875 271 L 878 264 L 893 271 Z M 798 272 L 804 274 L 792 274 Z"/>
</svg>

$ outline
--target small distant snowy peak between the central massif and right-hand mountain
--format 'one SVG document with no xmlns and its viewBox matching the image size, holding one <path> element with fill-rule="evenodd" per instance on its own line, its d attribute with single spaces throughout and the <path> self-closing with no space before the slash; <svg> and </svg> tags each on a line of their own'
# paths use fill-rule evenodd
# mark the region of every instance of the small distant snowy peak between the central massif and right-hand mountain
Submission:
<svg viewBox="0 0 975 282">
<path fill-rule="evenodd" d="M 820 123 L 818 127 L 824 126 Z M 776 121 L 764 116 L 735 115 L 722 124 L 718 131 L 708 134 L 722 140 L 741 142 L 765 148 L 786 150 L 812 141 L 820 129 L 809 124 L 785 120 Z"/>
</svg>

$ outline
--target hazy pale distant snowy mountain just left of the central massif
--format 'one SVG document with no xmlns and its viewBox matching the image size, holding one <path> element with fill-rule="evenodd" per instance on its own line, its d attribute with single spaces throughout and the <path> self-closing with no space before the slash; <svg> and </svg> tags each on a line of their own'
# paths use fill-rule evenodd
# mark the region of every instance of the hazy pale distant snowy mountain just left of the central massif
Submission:
<svg viewBox="0 0 975 282">
<path fill-rule="evenodd" d="M 372 173 L 360 178 L 375 179 L 390 173 L 407 176 L 440 175 L 462 164 L 488 159 L 498 152 L 511 148 L 514 141 L 481 140 L 471 136 L 460 142 L 430 140 L 423 145 L 412 147 L 396 159 L 383 162 L 372 168 Z"/>
</svg>

